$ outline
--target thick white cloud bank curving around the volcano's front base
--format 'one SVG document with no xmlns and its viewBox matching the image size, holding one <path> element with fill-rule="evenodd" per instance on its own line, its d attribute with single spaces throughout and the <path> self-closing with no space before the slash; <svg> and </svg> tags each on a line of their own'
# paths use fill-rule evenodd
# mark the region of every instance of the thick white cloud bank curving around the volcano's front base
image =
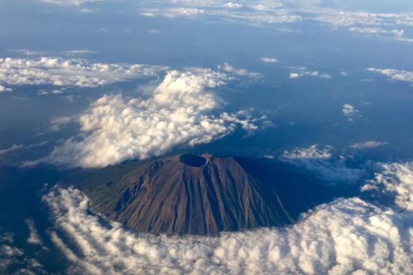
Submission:
<svg viewBox="0 0 413 275">
<path fill-rule="evenodd" d="M 135 234 L 118 223 L 104 225 L 74 188 L 55 188 L 43 199 L 55 224 L 54 243 L 72 261 L 70 274 L 411 274 L 413 201 L 403 194 L 413 191 L 413 180 L 405 180 L 413 170 L 388 165 L 373 181 L 385 182 L 406 211 L 358 197 L 337 199 L 289 227 L 217 237 Z"/>
</svg>

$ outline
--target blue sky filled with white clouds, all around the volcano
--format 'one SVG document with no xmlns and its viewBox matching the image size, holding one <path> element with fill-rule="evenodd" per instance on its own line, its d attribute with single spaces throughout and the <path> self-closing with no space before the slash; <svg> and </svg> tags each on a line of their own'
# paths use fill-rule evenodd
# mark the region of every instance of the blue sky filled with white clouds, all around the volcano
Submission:
<svg viewBox="0 0 413 275">
<path fill-rule="evenodd" d="M 171 239 L 106 226 L 79 190 L 41 182 L 27 197 L 50 224 L 2 222 L 0 272 L 412 273 L 412 64 L 407 0 L 0 1 L 2 171 L 193 151 L 360 192 L 288 228 Z"/>
</svg>

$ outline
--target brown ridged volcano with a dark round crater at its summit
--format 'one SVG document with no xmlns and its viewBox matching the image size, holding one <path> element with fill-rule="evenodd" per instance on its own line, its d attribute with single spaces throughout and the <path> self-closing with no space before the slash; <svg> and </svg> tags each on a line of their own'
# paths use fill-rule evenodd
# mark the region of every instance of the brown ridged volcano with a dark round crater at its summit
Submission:
<svg viewBox="0 0 413 275">
<path fill-rule="evenodd" d="M 241 163 L 183 154 L 110 166 L 70 182 L 91 199 L 94 211 L 153 234 L 215 235 L 286 225 L 323 202 L 312 200 L 321 192 L 310 183 L 296 184 L 297 173 L 286 183 L 284 168 L 264 172 Z M 247 170 L 270 177 L 263 181 Z"/>
</svg>

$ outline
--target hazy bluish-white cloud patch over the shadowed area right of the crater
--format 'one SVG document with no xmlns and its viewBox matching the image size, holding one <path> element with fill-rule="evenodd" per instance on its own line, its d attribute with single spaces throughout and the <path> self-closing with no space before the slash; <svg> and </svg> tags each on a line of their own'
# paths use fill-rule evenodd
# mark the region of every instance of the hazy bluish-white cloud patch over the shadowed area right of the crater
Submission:
<svg viewBox="0 0 413 275">
<path fill-rule="evenodd" d="M 284 151 L 281 159 L 298 167 L 306 168 L 323 180 L 330 182 L 348 182 L 354 184 L 359 181 L 365 171 L 360 168 L 350 168 L 346 157 L 335 154 L 335 148 L 324 146 L 319 148 L 313 144 L 308 148 L 294 148 Z"/>
</svg>

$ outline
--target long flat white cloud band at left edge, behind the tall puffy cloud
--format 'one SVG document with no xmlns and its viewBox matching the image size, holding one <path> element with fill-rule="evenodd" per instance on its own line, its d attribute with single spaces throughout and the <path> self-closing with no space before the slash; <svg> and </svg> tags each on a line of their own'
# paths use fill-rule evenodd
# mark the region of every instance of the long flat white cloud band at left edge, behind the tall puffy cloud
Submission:
<svg viewBox="0 0 413 275">
<path fill-rule="evenodd" d="M 98 87 L 131 78 L 156 76 L 165 69 L 140 64 L 91 63 L 78 58 L 0 58 L 0 84 Z"/>
</svg>

